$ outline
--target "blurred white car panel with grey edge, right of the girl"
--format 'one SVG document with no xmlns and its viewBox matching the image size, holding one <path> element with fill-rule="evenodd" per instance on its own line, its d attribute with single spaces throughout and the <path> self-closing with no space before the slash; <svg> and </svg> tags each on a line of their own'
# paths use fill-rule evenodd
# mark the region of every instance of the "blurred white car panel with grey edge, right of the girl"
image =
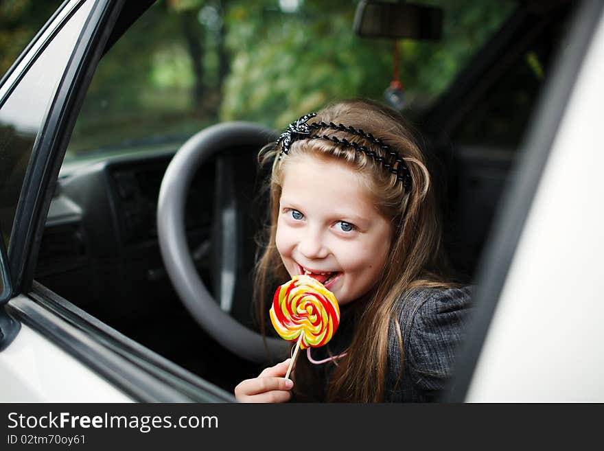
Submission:
<svg viewBox="0 0 604 451">
<path fill-rule="evenodd" d="M 602 402 L 604 20 L 568 28 L 480 264 L 452 402 Z"/>
</svg>

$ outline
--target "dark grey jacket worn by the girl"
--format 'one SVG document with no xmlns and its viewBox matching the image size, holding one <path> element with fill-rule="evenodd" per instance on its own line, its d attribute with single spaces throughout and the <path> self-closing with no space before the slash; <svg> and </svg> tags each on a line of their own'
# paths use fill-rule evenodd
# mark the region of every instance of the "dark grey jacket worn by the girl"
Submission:
<svg viewBox="0 0 604 451">
<path fill-rule="evenodd" d="M 399 299 L 397 313 L 403 340 L 401 356 L 395 325 L 388 338 L 388 376 L 386 402 L 433 402 L 448 384 L 458 347 L 463 340 L 470 312 L 472 287 L 416 288 Z M 346 306 L 345 306 L 346 309 Z M 312 349 L 314 360 L 344 352 L 350 344 L 354 315 L 344 314 L 338 332 L 325 347 Z M 403 373 L 399 379 L 403 362 Z M 310 373 L 303 371 L 310 370 Z M 296 369 L 294 400 L 322 401 L 334 363 L 310 365 L 299 360 Z M 316 381 L 306 385 L 305 383 Z"/>
</svg>

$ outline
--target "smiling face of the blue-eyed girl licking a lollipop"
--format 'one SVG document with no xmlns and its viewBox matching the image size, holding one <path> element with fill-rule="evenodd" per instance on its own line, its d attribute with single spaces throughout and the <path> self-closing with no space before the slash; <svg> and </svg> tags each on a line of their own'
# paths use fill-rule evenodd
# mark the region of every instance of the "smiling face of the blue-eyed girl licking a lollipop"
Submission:
<svg viewBox="0 0 604 451">
<path fill-rule="evenodd" d="M 344 305 L 373 287 L 390 245 L 391 224 L 373 206 L 362 176 L 309 155 L 287 162 L 277 250 L 290 277 L 314 277 Z"/>
</svg>

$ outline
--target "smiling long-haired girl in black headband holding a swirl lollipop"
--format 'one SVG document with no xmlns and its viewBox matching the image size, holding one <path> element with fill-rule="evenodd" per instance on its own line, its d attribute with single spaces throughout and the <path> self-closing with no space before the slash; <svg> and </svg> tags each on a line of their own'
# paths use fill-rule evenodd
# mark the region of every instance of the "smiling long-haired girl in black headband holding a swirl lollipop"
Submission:
<svg viewBox="0 0 604 451">
<path fill-rule="evenodd" d="M 445 277 L 434 189 L 404 119 L 366 100 L 339 102 L 291 124 L 260 160 L 272 172 L 259 312 L 279 284 L 307 274 L 334 292 L 341 319 L 325 347 L 299 356 L 293 382 L 286 360 L 238 384 L 237 400 L 286 402 L 292 387 L 306 402 L 434 400 L 470 290 Z"/>
</svg>

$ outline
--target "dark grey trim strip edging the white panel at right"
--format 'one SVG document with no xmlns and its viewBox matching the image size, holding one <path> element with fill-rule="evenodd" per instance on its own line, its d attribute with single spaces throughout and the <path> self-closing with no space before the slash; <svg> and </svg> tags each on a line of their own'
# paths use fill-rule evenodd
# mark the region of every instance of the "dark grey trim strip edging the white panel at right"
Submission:
<svg viewBox="0 0 604 451">
<path fill-rule="evenodd" d="M 553 76 L 539 99 L 535 120 L 521 146 L 522 156 L 504 192 L 502 208 L 493 221 L 495 225 L 487 240 L 486 251 L 480 259 L 478 289 L 474 297 L 475 311 L 454 371 L 452 385 L 443 396 L 443 402 L 465 400 L 524 223 L 529 216 L 581 63 L 588 51 L 590 38 L 601 21 L 603 7 L 604 3 L 599 0 L 585 0 L 574 12 L 567 34 L 568 45 L 564 51 L 559 51 Z"/>
</svg>

